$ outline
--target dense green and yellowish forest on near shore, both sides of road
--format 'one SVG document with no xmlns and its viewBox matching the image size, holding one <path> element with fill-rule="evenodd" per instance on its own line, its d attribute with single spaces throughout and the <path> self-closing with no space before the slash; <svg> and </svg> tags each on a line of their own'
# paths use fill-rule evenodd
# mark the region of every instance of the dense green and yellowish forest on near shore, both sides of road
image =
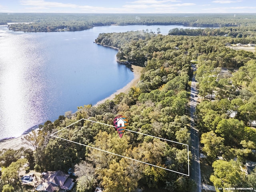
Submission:
<svg viewBox="0 0 256 192">
<path fill-rule="evenodd" d="M 140 15 L 140 20 L 146 16 Z M 225 25 L 231 15 L 224 16 L 219 18 L 216 15 L 212 22 L 208 22 L 214 24 L 213 21 L 219 18 Z M 252 17 L 246 15 L 240 19 L 249 23 Z M 31 19 L 29 14 L 26 19 Z M 188 21 L 189 18 L 183 19 Z M 239 17 L 235 19 L 239 20 Z M 207 22 L 200 20 L 202 23 Z M 249 31 L 254 29 L 250 26 L 233 27 L 239 22 L 228 25 L 232 27 L 175 29 L 170 30 L 171 35 L 147 30 L 99 34 L 95 42 L 118 48 L 116 57 L 120 62 L 144 67 L 140 81 L 128 94 L 118 94 L 113 100 L 98 106 L 80 106 L 74 114 L 66 112 L 54 122 L 45 122 L 38 132 L 32 131 L 24 137 L 24 143 L 34 150 L 3 150 L 0 156 L 0 191 L 29 191 L 19 179 L 19 170 L 24 162 L 29 164 L 26 169 L 38 172 L 67 172 L 70 167 L 75 168 L 77 183 L 74 191 L 77 192 L 91 192 L 96 186 L 104 188 L 104 192 L 140 189 L 147 192 L 192 191 L 195 184 L 188 176 L 50 136 L 82 118 L 112 125 L 115 116 L 122 114 L 129 119 L 129 130 L 190 144 L 188 103 L 193 75 L 191 63 L 197 66 L 200 103 L 196 109 L 196 126 L 200 131 L 200 147 L 206 156 L 200 160 L 208 171 L 202 170 L 204 183 L 214 185 L 216 191 L 224 187 L 256 188 L 256 169 L 248 175 L 244 170 L 247 161 L 256 161 L 256 129 L 251 127 L 256 119 L 256 56 L 252 52 L 225 46 L 235 42 L 253 43 L 255 36 Z M 247 31 L 248 35 L 223 36 L 228 34 L 228 30 L 242 34 Z M 119 138 L 114 128 L 86 120 L 73 124 L 58 136 L 188 173 L 187 150 L 178 144 L 128 131 Z M 189 156 L 191 158 L 191 154 Z"/>
</svg>

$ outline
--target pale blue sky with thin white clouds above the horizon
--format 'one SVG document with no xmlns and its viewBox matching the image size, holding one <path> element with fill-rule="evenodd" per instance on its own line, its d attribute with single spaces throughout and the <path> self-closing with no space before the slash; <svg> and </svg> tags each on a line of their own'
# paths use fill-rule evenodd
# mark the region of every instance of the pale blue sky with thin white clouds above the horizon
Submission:
<svg viewBox="0 0 256 192">
<path fill-rule="evenodd" d="M 256 13 L 255 0 L 0 0 L 0 12 Z"/>
</svg>

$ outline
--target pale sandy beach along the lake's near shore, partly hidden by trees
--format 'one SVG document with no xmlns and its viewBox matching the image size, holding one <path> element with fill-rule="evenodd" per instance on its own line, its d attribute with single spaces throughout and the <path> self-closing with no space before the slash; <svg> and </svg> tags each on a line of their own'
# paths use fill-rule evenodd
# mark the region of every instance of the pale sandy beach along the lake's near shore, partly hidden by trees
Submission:
<svg viewBox="0 0 256 192">
<path fill-rule="evenodd" d="M 134 79 L 130 83 L 128 83 L 122 89 L 117 90 L 115 93 L 113 93 L 109 97 L 105 98 L 104 100 L 99 101 L 95 106 L 105 102 L 106 100 L 114 99 L 115 95 L 120 94 L 121 92 L 127 94 L 131 87 L 136 86 L 136 84 L 140 80 L 140 75 L 141 75 L 142 67 L 132 65 L 132 71 L 134 72 Z M 37 130 L 38 129 L 36 129 L 36 131 Z M 24 137 L 24 135 L 21 135 L 21 136 L 19 136 L 17 138 L 10 138 L 10 139 L 6 139 L 6 140 L 0 141 L 0 151 L 3 150 L 3 149 L 18 150 L 21 147 L 33 149 L 31 146 L 28 146 L 28 145 L 22 143 L 21 139 L 23 137 Z"/>
</svg>

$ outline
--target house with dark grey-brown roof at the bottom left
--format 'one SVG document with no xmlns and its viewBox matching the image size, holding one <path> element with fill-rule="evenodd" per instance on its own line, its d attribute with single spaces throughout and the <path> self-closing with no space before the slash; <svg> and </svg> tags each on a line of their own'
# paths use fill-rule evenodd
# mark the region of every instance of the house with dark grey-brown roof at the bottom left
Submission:
<svg viewBox="0 0 256 192">
<path fill-rule="evenodd" d="M 58 171 L 42 173 L 42 183 L 38 185 L 38 192 L 70 191 L 74 186 L 73 179 L 68 174 Z"/>
</svg>

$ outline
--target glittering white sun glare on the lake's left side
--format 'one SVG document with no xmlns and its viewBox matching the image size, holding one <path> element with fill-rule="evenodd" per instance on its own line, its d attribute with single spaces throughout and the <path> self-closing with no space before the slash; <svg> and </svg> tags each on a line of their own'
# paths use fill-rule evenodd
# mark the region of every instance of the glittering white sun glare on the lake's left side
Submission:
<svg viewBox="0 0 256 192">
<path fill-rule="evenodd" d="M 20 136 L 44 121 L 44 85 L 39 80 L 43 78 L 42 58 L 33 54 L 36 44 L 28 44 L 26 38 L 29 37 L 6 36 L 1 40 L 4 46 L 0 46 L 0 138 Z"/>
</svg>

